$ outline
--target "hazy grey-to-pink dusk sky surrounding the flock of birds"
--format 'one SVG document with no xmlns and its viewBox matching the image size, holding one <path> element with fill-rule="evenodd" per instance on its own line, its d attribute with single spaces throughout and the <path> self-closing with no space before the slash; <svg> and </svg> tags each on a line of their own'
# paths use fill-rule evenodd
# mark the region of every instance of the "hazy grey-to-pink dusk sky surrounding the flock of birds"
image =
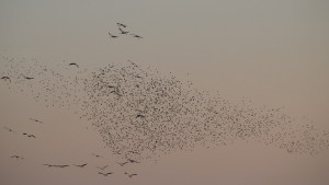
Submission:
<svg viewBox="0 0 329 185">
<path fill-rule="evenodd" d="M 86 69 L 132 60 L 191 80 L 194 88 L 211 94 L 218 91 L 230 103 L 248 100 L 251 107 L 284 106 L 284 113 L 295 118 L 293 124 L 308 122 L 329 131 L 328 20 L 329 1 L 325 0 L 1 0 L 0 55 L 14 60 L 36 58 L 47 66 L 66 60 Z M 120 35 L 117 22 L 144 39 Z M 120 37 L 112 39 L 109 32 Z M 0 85 L 1 184 L 329 183 L 329 150 L 295 155 L 242 140 L 121 167 L 101 137 L 86 129 L 90 123 L 70 111 L 47 109 L 13 93 L 3 81 Z M 52 124 L 26 123 L 36 116 Z M 47 139 L 13 137 L 3 127 L 33 130 Z M 16 153 L 26 160 L 9 158 Z M 90 153 L 106 157 L 105 162 Z M 104 177 L 92 167 L 77 172 L 80 169 L 41 165 L 61 161 L 106 163 L 118 175 Z M 126 177 L 128 171 L 138 176 Z"/>
</svg>

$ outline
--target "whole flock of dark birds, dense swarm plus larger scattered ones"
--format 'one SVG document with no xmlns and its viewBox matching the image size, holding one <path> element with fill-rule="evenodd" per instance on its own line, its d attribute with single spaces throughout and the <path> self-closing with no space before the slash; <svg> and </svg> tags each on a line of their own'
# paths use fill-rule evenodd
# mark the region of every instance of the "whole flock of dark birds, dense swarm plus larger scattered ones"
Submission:
<svg viewBox="0 0 329 185">
<path fill-rule="evenodd" d="M 121 34 L 128 33 L 121 28 L 126 25 L 117 25 Z M 294 119 L 282 113 L 283 107 L 251 108 L 245 101 L 232 104 L 219 94 L 211 95 L 192 83 L 131 60 L 109 62 L 100 69 L 81 69 L 82 63 L 65 60 L 47 67 L 34 58 L 16 61 L 4 56 L 1 63 L 2 86 L 31 96 L 46 107 L 75 109 L 102 136 L 113 154 L 125 159 L 118 163 L 122 166 L 171 152 L 193 151 L 196 146 L 226 146 L 237 139 L 273 144 L 294 154 L 317 154 L 329 147 L 328 132 L 309 124 L 293 124 Z M 16 134 L 9 127 L 4 129 Z M 31 134 L 23 135 L 37 139 Z"/>
</svg>

